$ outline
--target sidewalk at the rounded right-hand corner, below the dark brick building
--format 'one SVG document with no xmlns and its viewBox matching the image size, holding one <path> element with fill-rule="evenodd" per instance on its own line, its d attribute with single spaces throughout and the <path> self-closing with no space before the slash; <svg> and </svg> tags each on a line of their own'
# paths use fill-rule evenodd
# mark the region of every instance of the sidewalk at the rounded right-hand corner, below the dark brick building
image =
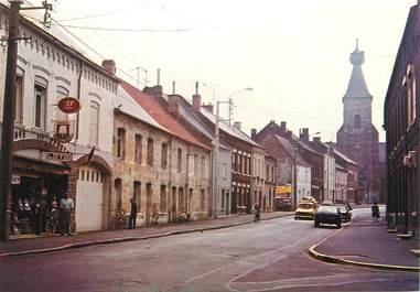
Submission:
<svg viewBox="0 0 420 292">
<path fill-rule="evenodd" d="M 327 262 L 420 271 L 419 258 L 410 252 L 412 249 L 419 249 L 418 240 L 401 241 L 387 231 L 383 220 L 373 223 L 367 216 L 312 247 L 310 255 Z"/>
</svg>

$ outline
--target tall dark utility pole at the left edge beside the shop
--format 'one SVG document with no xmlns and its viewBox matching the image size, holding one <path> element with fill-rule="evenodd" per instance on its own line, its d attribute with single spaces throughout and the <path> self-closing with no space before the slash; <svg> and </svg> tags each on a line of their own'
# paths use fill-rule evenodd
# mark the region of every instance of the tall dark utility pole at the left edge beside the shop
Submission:
<svg viewBox="0 0 420 292">
<path fill-rule="evenodd" d="M 13 170 L 13 131 L 14 131 L 14 108 L 15 108 L 15 76 L 18 63 L 18 41 L 19 37 L 19 11 L 45 9 L 44 25 L 49 28 L 52 6 L 47 1 L 42 2 L 42 7 L 21 8 L 24 0 L 8 0 L 10 3 L 9 14 L 9 36 L 8 56 L 4 78 L 4 100 L 3 120 L 1 127 L 1 152 L 0 152 L 0 240 L 9 239 L 11 219 L 11 179 Z"/>
</svg>

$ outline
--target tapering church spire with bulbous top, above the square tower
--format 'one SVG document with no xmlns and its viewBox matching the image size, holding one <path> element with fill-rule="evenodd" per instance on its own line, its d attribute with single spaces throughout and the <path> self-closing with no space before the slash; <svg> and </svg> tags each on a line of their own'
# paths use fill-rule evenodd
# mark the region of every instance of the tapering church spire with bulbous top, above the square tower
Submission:
<svg viewBox="0 0 420 292">
<path fill-rule="evenodd" d="M 362 64 L 365 62 L 365 54 L 363 51 L 358 50 L 358 39 L 356 39 L 356 48 L 351 54 L 349 62 L 353 64 L 353 71 L 344 98 L 371 98 L 371 95 L 367 90 L 362 71 Z"/>
</svg>

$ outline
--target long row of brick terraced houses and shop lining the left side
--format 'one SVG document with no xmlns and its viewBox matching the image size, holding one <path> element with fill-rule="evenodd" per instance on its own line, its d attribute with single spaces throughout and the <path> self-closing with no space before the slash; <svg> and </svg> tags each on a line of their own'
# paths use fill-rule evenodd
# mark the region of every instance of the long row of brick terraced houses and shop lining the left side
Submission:
<svg viewBox="0 0 420 292">
<path fill-rule="evenodd" d="M 4 35 L 8 10 L 1 4 Z M 309 141 L 308 129 L 298 138 L 271 121 L 250 138 L 239 122 L 217 120 L 197 86 L 192 101 L 159 84 L 139 89 L 116 76 L 114 61 L 99 66 L 60 34 L 24 18 L 19 32 L 12 210 L 21 232 L 44 230 L 53 198 L 65 194 L 75 203 L 74 231 L 120 227 L 130 199 L 138 226 L 182 213 L 192 220 L 249 214 L 256 204 L 272 212 L 284 195 L 292 204 L 303 196 L 355 202 L 357 164 L 332 144 Z M 0 91 L 6 56 L 7 48 Z M 77 112 L 58 108 L 66 97 L 82 105 Z M 294 187 L 279 191 L 293 182 L 295 197 Z"/>
</svg>

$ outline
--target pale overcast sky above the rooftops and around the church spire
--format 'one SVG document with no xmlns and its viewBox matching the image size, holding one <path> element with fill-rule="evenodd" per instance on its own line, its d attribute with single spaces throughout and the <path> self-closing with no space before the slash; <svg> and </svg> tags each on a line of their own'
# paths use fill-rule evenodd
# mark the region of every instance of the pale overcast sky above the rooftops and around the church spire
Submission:
<svg viewBox="0 0 420 292">
<path fill-rule="evenodd" d="M 39 4 L 41 0 L 31 0 Z M 203 101 L 233 95 L 243 130 L 270 120 L 294 133 L 309 127 L 335 140 L 342 97 L 359 40 L 373 120 L 384 141 L 383 105 L 409 8 L 416 0 L 50 0 L 53 18 L 89 47 L 100 64 L 114 58 L 118 75 L 140 86 L 191 98 L 200 82 Z M 69 28 L 77 26 L 77 28 Z M 86 28 L 96 28 L 86 29 Z M 109 30 L 103 31 L 103 28 Z M 121 31 L 118 31 L 118 30 Z M 132 30 L 132 31 L 123 31 Z M 96 52 L 93 52 L 95 50 Z M 148 72 L 146 76 L 146 71 Z M 131 75 L 131 77 L 127 76 Z M 226 106 L 223 106 L 226 107 Z M 224 111 L 226 112 L 226 111 Z"/>
</svg>

